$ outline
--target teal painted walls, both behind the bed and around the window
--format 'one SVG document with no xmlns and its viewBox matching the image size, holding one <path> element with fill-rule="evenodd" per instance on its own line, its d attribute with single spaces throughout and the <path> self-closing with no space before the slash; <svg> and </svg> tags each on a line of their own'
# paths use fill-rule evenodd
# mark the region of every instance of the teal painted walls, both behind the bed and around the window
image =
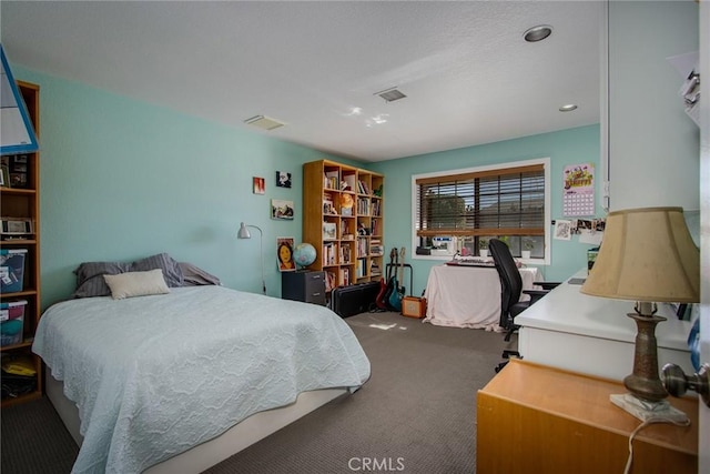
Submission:
<svg viewBox="0 0 710 474">
<path fill-rule="evenodd" d="M 267 292 L 278 296 L 275 241 L 283 235 L 301 241 L 301 169 L 308 161 L 328 158 L 386 175 L 385 244 L 389 249 L 410 245 L 412 174 L 550 157 L 555 219 L 561 215 L 562 167 L 597 164 L 599 157 L 599 128 L 594 125 L 382 163 L 357 163 L 19 65 L 12 68 L 16 78 L 41 88 L 44 307 L 73 291 L 72 271 L 81 262 L 131 261 L 158 252 L 195 263 L 219 275 L 226 286 L 258 292 L 258 240 L 236 239 L 241 221 L 264 230 Z M 275 186 L 277 170 L 292 173 L 291 189 Z M 266 179 L 266 194 L 252 193 L 254 175 Z M 294 201 L 295 220 L 271 220 L 270 199 Z M 584 266 L 588 246 L 576 240 L 552 241 L 551 265 L 542 269 L 546 278 L 561 279 Z M 422 292 L 435 263 L 413 262 L 414 294 Z"/>
</svg>

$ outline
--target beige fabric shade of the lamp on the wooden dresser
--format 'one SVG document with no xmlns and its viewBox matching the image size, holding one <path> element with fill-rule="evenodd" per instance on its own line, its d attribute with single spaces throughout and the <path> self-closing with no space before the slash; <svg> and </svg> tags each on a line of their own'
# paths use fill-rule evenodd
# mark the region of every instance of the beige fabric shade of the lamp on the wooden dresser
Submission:
<svg viewBox="0 0 710 474">
<path fill-rule="evenodd" d="M 646 302 L 700 301 L 700 250 L 681 208 L 610 212 L 585 294 Z"/>
</svg>

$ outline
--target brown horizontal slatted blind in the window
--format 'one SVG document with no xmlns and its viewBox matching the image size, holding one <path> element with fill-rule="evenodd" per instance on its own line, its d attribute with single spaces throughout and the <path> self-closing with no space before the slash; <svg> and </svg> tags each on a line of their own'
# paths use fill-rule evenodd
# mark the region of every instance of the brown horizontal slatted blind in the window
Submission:
<svg viewBox="0 0 710 474">
<path fill-rule="evenodd" d="M 545 235 L 542 164 L 416 180 L 416 232 Z"/>
</svg>

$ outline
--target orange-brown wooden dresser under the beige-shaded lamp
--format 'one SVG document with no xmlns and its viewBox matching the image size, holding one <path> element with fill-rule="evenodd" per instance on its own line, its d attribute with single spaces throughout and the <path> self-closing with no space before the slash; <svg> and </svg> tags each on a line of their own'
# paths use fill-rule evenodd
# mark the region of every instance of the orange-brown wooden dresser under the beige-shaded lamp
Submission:
<svg viewBox="0 0 710 474">
<path fill-rule="evenodd" d="M 622 474 L 641 424 L 609 401 L 625 392 L 620 382 L 511 360 L 478 391 L 476 472 Z M 669 402 L 691 425 L 643 427 L 631 473 L 698 472 L 698 400 Z"/>
</svg>

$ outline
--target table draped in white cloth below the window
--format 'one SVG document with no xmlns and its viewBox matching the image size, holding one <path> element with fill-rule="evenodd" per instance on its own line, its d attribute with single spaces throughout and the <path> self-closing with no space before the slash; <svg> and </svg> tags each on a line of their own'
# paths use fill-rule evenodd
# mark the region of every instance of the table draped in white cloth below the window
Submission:
<svg viewBox="0 0 710 474">
<path fill-rule="evenodd" d="M 523 289 L 537 281 L 535 268 L 520 269 Z M 500 278 L 495 266 L 437 265 L 429 271 L 424 322 L 440 326 L 499 331 Z M 529 299 L 524 294 L 520 300 Z"/>
</svg>

